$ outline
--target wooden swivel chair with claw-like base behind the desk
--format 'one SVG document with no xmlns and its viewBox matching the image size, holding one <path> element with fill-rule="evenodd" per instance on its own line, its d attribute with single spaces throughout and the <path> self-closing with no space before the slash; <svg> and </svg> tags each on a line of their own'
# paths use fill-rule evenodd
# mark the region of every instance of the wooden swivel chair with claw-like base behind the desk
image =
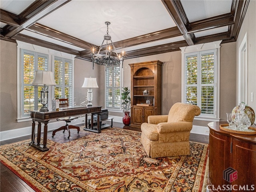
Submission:
<svg viewBox="0 0 256 192">
<path fill-rule="evenodd" d="M 63 107 L 68 107 L 68 99 L 60 99 L 60 108 L 63 108 Z M 68 139 L 70 137 L 70 129 L 77 129 L 77 133 L 79 133 L 80 127 L 74 126 L 74 125 L 68 125 L 68 123 L 70 123 L 72 120 L 77 118 L 78 117 L 58 118 L 57 121 L 66 121 L 66 125 L 52 131 L 52 137 L 54 137 L 55 133 L 60 130 L 64 130 L 63 133 L 65 132 L 65 130 L 68 130 Z"/>
</svg>

